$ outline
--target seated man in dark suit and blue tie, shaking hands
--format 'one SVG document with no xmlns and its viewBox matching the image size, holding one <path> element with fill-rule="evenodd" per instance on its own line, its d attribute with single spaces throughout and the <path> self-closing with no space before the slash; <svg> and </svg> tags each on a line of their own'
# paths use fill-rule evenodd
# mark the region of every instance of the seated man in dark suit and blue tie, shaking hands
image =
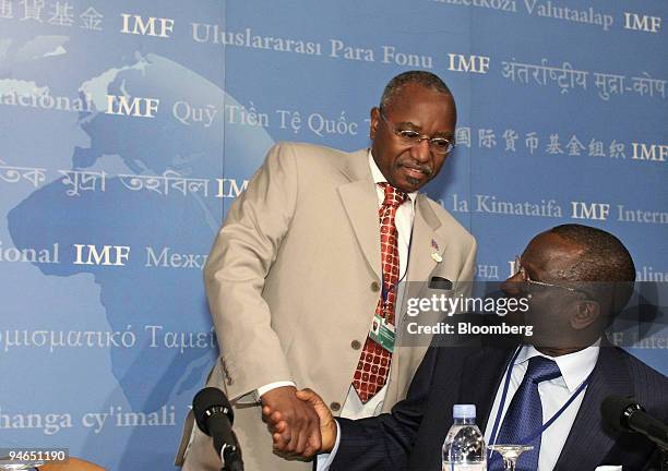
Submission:
<svg viewBox="0 0 668 471">
<path fill-rule="evenodd" d="M 318 395 L 299 391 L 319 414 L 321 452 L 331 452 L 319 456 L 319 469 L 440 470 L 453 404 L 474 403 L 486 443 L 520 444 L 527 427 L 535 430 L 534 450 L 520 458 L 517 470 L 658 470 L 656 446 L 608 430 L 599 412 L 607 396 L 619 395 L 668 420 L 666 376 L 611 346 L 604 334 L 627 304 L 634 279 L 629 252 L 608 232 L 564 225 L 538 234 L 502 286 L 508 295 L 529 299 L 534 331 L 520 345 L 430 348 L 407 398 L 372 419 L 334 420 Z M 274 447 L 289 451 L 281 414 L 263 412 L 277 432 Z M 500 461 L 489 460 L 489 469 L 502 470 Z"/>
</svg>

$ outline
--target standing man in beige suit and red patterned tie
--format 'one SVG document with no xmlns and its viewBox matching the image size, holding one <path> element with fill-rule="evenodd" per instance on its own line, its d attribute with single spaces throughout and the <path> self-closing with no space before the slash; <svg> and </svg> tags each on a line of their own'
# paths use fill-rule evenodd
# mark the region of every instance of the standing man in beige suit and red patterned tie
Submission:
<svg viewBox="0 0 668 471">
<path fill-rule="evenodd" d="M 418 191 L 454 146 L 456 109 L 434 74 L 394 77 L 371 110 L 370 149 L 274 146 L 232 204 L 205 267 L 220 345 L 207 384 L 235 404 L 247 471 L 309 470 L 272 450 L 261 406 L 290 424 L 290 455 L 320 448 L 318 415 L 296 387 L 332 411 L 377 415 L 406 396 L 424 348 L 395 348 L 395 287 L 465 290 L 476 242 Z M 219 470 L 211 439 L 187 421 L 177 464 Z M 190 439 L 189 449 L 186 450 Z"/>
</svg>

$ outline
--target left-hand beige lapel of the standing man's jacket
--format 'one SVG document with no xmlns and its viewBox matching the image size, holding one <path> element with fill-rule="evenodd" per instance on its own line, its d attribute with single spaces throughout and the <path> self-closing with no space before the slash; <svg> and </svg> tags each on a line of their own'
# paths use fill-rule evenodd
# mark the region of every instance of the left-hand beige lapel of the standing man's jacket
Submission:
<svg viewBox="0 0 668 471">
<path fill-rule="evenodd" d="M 369 267 L 381 279 L 380 226 L 378 195 L 367 159 L 368 150 L 349 156 L 342 172 L 350 180 L 338 186 L 341 201 Z"/>
</svg>

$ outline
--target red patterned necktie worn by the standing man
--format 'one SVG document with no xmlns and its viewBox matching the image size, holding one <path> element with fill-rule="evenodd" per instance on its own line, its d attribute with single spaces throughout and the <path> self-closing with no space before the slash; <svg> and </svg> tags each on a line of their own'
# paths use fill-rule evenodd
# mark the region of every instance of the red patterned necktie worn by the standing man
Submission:
<svg viewBox="0 0 668 471">
<path fill-rule="evenodd" d="M 385 191 L 385 198 L 378 214 L 380 217 L 381 263 L 383 268 L 383 288 L 375 306 L 375 314 L 394 325 L 395 287 L 398 282 L 398 232 L 394 225 L 396 209 L 408 195 L 390 183 L 378 183 Z M 357 370 L 353 377 L 353 387 L 359 399 L 366 403 L 383 388 L 390 374 L 392 353 L 367 336 L 365 348 L 359 357 Z"/>
</svg>

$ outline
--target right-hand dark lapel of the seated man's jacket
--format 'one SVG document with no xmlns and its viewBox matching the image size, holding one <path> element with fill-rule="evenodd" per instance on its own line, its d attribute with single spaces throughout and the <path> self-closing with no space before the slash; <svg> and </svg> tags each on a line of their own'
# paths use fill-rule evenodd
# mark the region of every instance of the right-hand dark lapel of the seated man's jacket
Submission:
<svg viewBox="0 0 668 471">
<path fill-rule="evenodd" d="M 617 349 L 601 342 L 598 361 L 571 433 L 554 466 L 554 471 L 595 469 L 615 445 L 616 435 L 606 432 L 600 403 L 609 395 L 633 396 L 633 382 Z M 586 444 L 586 447 L 583 447 Z"/>
</svg>

